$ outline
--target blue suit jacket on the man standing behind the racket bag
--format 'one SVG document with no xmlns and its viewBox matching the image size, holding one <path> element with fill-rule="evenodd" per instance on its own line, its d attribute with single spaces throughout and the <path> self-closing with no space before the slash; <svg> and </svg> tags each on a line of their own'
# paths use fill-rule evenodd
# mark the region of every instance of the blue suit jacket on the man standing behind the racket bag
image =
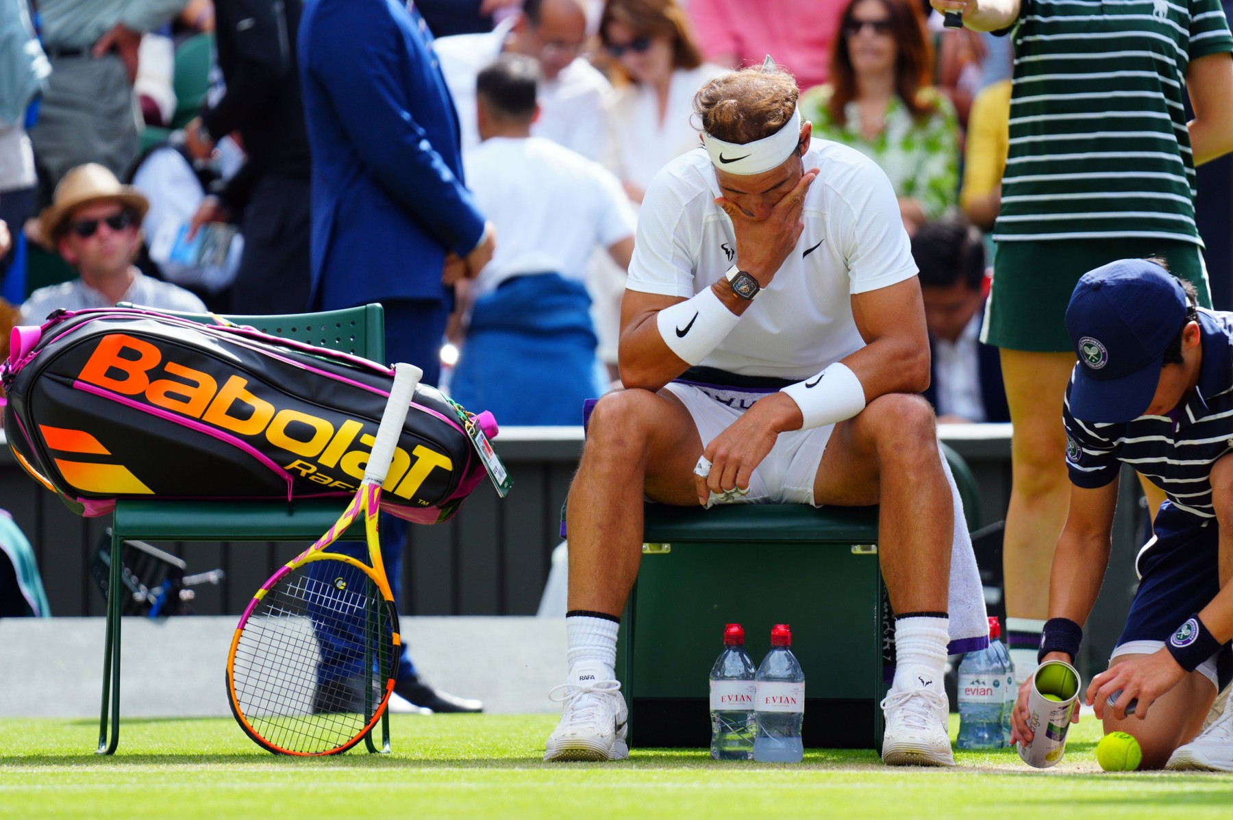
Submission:
<svg viewBox="0 0 1233 820">
<path fill-rule="evenodd" d="M 395 0 L 307 0 L 298 49 L 311 303 L 448 301 L 445 253 L 471 252 L 483 216 L 462 185 L 457 115 L 418 15 Z"/>
</svg>

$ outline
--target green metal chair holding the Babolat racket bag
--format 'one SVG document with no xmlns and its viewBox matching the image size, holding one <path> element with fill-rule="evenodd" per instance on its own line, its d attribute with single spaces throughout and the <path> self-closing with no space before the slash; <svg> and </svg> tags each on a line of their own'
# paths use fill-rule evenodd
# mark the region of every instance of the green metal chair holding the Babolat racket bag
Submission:
<svg viewBox="0 0 1233 820">
<path fill-rule="evenodd" d="M 201 322 L 210 316 L 180 313 Z M 340 311 L 286 316 L 229 316 L 238 324 L 263 333 L 344 350 L 374 361 L 385 361 L 385 313 L 380 305 Z M 111 755 L 120 744 L 120 628 L 122 547 L 126 540 L 152 541 L 314 541 L 329 529 L 343 506 L 338 499 L 286 502 L 118 501 L 111 534 L 111 578 L 107 584 L 107 629 L 102 665 L 102 711 L 99 718 L 100 755 Z M 363 522 L 353 530 L 364 540 Z M 255 592 L 255 589 L 254 589 Z M 219 658 L 219 673 L 223 658 Z M 222 689 L 219 689 L 219 694 Z M 109 721 L 110 713 L 110 721 Z M 110 723 L 110 732 L 109 732 Z M 390 751 L 390 713 L 381 724 L 380 751 Z M 371 732 L 370 752 L 379 751 Z"/>
</svg>

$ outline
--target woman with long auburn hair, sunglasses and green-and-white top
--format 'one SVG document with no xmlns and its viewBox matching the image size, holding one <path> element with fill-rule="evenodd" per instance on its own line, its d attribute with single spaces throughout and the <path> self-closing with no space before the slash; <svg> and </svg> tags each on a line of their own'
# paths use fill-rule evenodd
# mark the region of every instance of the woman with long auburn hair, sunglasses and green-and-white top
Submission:
<svg viewBox="0 0 1233 820">
<path fill-rule="evenodd" d="M 873 159 L 890 178 L 912 234 L 954 206 L 959 125 L 928 85 L 925 22 L 909 0 L 851 0 L 831 55 L 830 85 L 800 97 L 814 136 Z"/>
</svg>

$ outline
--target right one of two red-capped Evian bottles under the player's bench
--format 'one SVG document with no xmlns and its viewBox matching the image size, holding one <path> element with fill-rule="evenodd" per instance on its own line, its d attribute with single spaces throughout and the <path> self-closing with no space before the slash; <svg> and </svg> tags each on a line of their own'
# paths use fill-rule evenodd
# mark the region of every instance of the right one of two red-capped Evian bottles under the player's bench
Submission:
<svg viewBox="0 0 1233 820">
<path fill-rule="evenodd" d="M 776 624 L 771 630 L 771 651 L 755 676 L 758 729 L 753 739 L 753 760 L 763 763 L 799 763 L 805 756 L 800 741 L 805 673 L 789 646 L 792 630 L 788 624 Z"/>
</svg>

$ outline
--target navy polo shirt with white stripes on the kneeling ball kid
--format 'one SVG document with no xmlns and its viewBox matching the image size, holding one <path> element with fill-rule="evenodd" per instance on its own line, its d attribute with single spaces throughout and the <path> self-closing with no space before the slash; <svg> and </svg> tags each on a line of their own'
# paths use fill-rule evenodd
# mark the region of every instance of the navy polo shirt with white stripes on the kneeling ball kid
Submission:
<svg viewBox="0 0 1233 820">
<path fill-rule="evenodd" d="M 1198 327 L 1203 345 L 1198 385 L 1170 416 L 1141 416 L 1117 424 L 1084 422 L 1071 416 L 1067 387 L 1062 419 L 1071 483 L 1104 487 L 1117 477 L 1118 462 L 1124 462 L 1164 490 L 1196 523 L 1216 518 L 1212 465 L 1233 450 L 1233 313 L 1200 308 Z"/>
</svg>

